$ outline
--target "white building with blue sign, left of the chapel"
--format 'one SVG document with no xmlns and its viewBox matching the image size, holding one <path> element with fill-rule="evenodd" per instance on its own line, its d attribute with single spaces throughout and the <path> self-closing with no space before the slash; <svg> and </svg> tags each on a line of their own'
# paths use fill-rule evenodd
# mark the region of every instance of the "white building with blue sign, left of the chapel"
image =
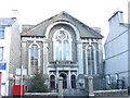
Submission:
<svg viewBox="0 0 130 98">
<path fill-rule="evenodd" d="M 13 13 L 16 14 L 17 11 L 14 10 Z M 0 19 L 0 94 L 2 96 L 10 94 L 15 69 L 21 62 L 21 27 L 15 16 Z"/>
</svg>

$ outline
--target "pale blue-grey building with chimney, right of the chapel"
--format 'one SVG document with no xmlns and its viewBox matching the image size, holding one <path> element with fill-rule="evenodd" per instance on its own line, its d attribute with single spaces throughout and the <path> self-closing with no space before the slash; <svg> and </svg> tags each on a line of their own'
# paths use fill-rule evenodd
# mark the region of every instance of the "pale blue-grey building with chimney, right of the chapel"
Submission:
<svg viewBox="0 0 130 98">
<path fill-rule="evenodd" d="M 121 11 L 114 13 L 108 22 L 109 34 L 104 45 L 106 86 L 107 88 L 112 85 L 118 86 L 117 88 L 127 88 L 130 60 L 128 58 L 129 25 L 123 23 Z M 119 84 L 122 84 L 122 87 Z"/>
</svg>

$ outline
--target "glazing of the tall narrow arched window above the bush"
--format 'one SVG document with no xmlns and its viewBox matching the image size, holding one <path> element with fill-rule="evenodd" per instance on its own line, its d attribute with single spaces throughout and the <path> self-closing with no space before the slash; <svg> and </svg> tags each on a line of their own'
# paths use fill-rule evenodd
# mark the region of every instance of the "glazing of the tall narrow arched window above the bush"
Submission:
<svg viewBox="0 0 130 98">
<path fill-rule="evenodd" d="M 32 45 L 30 48 L 30 74 L 38 72 L 38 46 Z"/>
</svg>

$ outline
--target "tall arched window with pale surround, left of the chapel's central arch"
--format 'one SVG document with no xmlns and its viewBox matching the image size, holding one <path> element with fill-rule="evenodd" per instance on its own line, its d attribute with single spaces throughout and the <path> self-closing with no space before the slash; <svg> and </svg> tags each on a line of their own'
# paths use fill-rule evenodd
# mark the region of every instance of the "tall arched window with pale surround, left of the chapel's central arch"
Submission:
<svg viewBox="0 0 130 98">
<path fill-rule="evenodd" d="M 32 44 L 29 48 L 29 74 L 34 75 L 39 71 L 39 48 Z"/>
</svg>

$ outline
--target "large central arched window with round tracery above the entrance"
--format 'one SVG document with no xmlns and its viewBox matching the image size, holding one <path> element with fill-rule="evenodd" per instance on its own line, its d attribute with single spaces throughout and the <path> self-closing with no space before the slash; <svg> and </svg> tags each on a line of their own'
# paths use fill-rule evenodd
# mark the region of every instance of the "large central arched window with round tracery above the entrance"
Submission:
<svg viewBox="0 0 130 98">
<path fill-rule="evenodd" d="M 72 36 L 63 27 L 53 36 L 54 61 L 72 61 Z"/>
</svg>

